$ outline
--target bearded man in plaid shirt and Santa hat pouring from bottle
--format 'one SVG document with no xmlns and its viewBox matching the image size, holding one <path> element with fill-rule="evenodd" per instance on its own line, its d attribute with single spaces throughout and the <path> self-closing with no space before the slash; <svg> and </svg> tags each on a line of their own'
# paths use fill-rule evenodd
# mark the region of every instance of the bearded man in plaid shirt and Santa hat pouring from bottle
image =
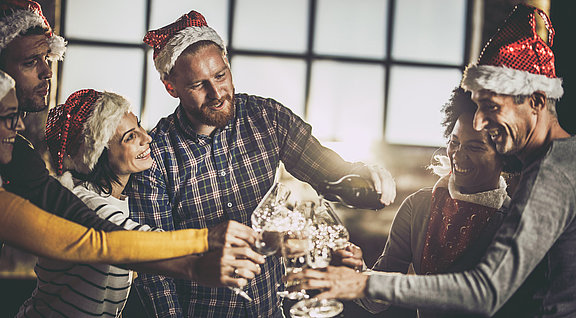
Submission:
<svg viewBox="0 0 576 318">
<path fill-rule="evenodd" d="M 213 226 L 226 220 L 250 225 L 282 161 L 296 178 L 317 185 L 349 173 L 372 178 L 390 204 L 395 184 L 384 169 L 344 161 L 323 147 L 311 127 L 273 99 L 235 94 L 226 47 L 195 11 L 150 31 L 154 63 L 176 111 L 151 131 L 156 162 L 133 175 L 131 216 L 164 230 Z M 282 275 L 270 256 L 245 291 L 246 302 L 224 288 L 140 275 L 135 286 L 155 317 L 282 317 L 276 294 Z"/>
</svg>

